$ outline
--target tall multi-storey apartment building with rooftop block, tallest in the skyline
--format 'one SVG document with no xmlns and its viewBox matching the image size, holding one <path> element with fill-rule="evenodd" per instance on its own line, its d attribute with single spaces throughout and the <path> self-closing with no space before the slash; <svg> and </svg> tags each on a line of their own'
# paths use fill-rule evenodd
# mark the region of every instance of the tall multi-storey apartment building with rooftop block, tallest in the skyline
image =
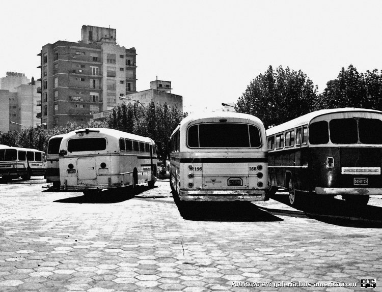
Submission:
<svg viewBox="0 0 382 292">
<path fill-rule="evenodd" d="M 117 44 L 114 28 L 83 25 L 78 42 L 46 44 L 41 57 L 41 123 L 86 124 L 136 92 L 136 51 Z"/>
</svg>

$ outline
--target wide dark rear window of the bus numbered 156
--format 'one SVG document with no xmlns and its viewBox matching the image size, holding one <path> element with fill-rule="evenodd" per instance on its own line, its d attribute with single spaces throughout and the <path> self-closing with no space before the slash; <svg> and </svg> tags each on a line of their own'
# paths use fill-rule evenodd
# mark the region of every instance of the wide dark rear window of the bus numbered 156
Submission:
<svg viewBox="0 0 382 292">
<path fill-rule="evenodd" d="M 260 131 L 247 124 L 215 123 L 189 127 L 187 135 L 190 148 L 238 148 L 261 146 Z"/>
</svg>

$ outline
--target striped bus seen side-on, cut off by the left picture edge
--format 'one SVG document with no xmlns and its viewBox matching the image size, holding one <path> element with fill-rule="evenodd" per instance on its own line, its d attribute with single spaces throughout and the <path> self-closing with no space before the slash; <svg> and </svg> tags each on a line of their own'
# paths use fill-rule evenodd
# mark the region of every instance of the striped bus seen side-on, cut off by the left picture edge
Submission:
<svg viewBox="0 0 382 292">
<path fill-rule="evenodd" d="M 3 181 L 46 176 L 45 153 L 36 149 L 0 145 L 0 176 Z"/>
</svg>

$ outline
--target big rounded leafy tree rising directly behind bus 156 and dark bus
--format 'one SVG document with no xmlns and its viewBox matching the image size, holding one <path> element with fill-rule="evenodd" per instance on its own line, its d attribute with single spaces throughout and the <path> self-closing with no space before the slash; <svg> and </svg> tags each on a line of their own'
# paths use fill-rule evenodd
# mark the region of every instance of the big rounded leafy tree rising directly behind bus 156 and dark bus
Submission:
<svg viewBox="0 0 382 292">
<path fill-rule="evenodd" d="M 269 66 L 247 86 L 236 109 L 257 116 L 267 128 L 312 111 L 316 99 L 317 86 L 304 72 Z"/>
</svg>

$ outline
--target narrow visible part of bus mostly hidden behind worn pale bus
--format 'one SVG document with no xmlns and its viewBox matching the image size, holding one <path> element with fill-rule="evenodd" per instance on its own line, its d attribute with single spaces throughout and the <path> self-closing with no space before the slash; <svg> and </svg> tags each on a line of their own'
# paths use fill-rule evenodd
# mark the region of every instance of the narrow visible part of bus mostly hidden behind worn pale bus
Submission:
<svg viewBox="0 0 382 292">
<path fill-rule="evenodd" d="M 62 138 L 65 134 L 50 137 L 46 151 L 46 182 L 52 183 L 53 188 L 60 188 L 59 152 Z"/>
</svg>

